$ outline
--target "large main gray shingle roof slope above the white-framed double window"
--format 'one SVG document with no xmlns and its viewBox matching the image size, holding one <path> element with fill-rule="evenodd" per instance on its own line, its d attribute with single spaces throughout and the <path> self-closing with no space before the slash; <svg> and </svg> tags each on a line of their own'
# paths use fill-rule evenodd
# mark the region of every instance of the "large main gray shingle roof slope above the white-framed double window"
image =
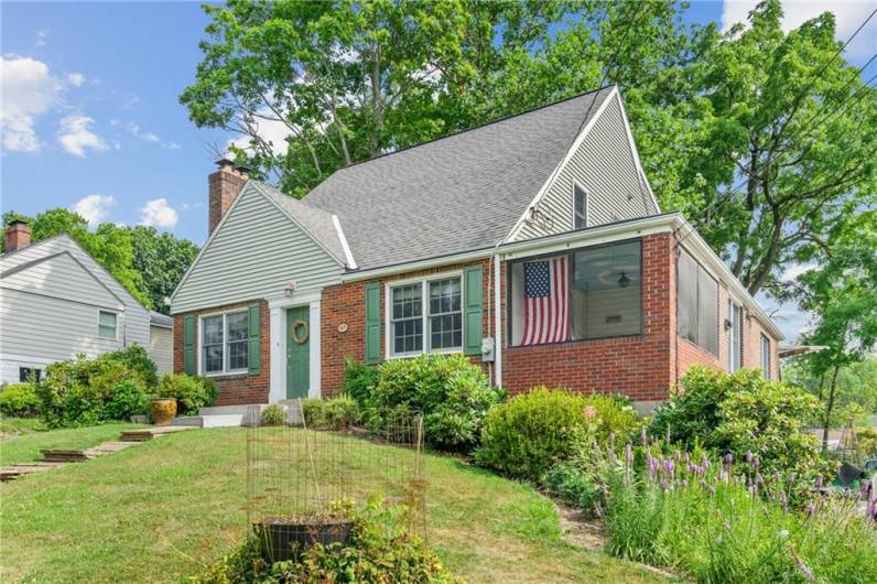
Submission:
<svg viewBox="0 0 877 584">
<path fill-rule="evenodd" d="M 342 169 L 303 201 L 338 216 L 360 269 L 492 247 L 611 89 Z"/>
</svg>

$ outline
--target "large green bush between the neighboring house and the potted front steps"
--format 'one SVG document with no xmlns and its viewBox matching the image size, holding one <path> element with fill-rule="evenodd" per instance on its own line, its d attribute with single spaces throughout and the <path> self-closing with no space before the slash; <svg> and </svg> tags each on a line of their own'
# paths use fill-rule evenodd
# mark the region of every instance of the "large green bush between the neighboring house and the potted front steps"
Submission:
<svg viewBox="0 0 877 584">
<path fill-rule="evenodd" d="M 147 413 L 155 378 L 155 365 L 139 345 L 53 363 L 35 388 L 39 413 L 50 428 L 128 420 Z"/>
</svg>

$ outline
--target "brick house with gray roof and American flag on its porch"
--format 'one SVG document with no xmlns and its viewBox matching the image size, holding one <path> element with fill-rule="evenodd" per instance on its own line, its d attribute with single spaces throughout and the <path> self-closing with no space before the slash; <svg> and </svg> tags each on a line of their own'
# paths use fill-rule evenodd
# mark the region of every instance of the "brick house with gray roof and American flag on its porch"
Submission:
<svg viewBox="0 0 877 584">
<path fill-rule="evenodd" d="M 338 170 L 303 199 L 220 161 L 174 292 L 174 368 L 219 404 L 329 396 L 346 358 L 462 352 L 512 392 L 630 396 L 695 364 L 778 376 L 782 338 L 660 212 L 615 86 Z"/>
</svg>

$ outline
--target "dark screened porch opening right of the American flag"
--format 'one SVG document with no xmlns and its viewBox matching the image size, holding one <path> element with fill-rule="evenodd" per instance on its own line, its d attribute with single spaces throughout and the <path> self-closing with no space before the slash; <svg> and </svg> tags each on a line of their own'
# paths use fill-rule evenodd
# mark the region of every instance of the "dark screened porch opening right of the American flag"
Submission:
<svg viewBox="0 0 877 584">
<path fill-rule="evenodd" d="M 640 244 L 576 251 L 573 280 L 573 338 L 640 333 L 642 274 Z"/>
</svg>

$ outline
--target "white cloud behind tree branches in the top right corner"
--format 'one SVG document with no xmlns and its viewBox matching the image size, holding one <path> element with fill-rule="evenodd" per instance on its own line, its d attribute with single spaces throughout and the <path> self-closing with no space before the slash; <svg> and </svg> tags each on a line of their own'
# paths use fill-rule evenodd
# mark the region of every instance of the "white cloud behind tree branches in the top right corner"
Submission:
<svg viewBox="0 0 877 584">
<path fill-rule="evenodd" d="M 722 30 L 728 30 L 736 22 L 746 22 L 749 12 L 758 4 L 756 0 L 725 0 L 722 7 Z M 834 12 L 836 36 L 846 42 L 849 36 L 865 22 L 871 10 L 874 0 L 783 0 L 782 29 L 797 29 L 804 21 L 819 17 L 823 12 Z M 874 36 L 877 22 L 871 20 L 846 47 L 848 55 L 867 56 L 874 52 Z"/>
</svg>

